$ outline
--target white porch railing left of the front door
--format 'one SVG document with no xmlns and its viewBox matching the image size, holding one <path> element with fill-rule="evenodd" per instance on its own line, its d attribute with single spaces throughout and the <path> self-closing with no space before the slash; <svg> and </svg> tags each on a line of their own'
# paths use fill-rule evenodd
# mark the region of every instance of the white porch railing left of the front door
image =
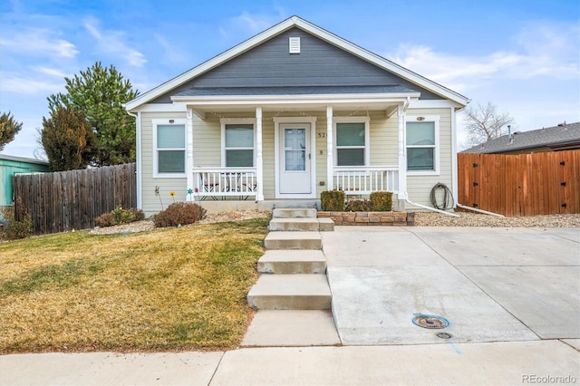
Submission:
<svg viewBox="0 0 580 386">
<path fill-rule="evenodd" d="M 193 169 L 195 201 L 256 198 L 256 168 Z"/>
</svg>

